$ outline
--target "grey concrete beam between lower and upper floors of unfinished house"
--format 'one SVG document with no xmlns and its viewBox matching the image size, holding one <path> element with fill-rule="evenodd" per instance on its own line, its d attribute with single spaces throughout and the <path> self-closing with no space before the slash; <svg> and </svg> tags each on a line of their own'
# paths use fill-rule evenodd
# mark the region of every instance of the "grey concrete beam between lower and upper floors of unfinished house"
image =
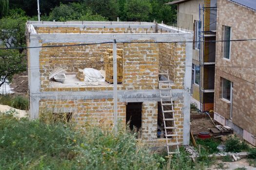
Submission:
<svg viewBox="0 0 256 170">
<path fill-rule="evenodd" d="M 174 89 L 173 100 L 182 100 L 184 90 Z M 87 100 L 87 99 L 112 99 L 113 91 L 56 91 L 31 93 L 33 97 L 42 100 Z M 159 102 L 159 90 L 118 90 L 119 102 Z"/>
</svg>

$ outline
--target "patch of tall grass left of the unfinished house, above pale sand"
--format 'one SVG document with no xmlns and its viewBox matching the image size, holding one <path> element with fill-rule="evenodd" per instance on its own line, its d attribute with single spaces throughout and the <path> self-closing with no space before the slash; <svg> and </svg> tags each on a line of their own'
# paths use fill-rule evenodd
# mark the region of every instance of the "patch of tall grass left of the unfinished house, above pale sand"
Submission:
<svg viewBox="0 0 256 170">
<path fill-rule="evenodd" d="M 23 96 L 0 95 L 0 104 L 9 105 L 16 109 L 28 110 L 28 99 Z"/>
</svg>

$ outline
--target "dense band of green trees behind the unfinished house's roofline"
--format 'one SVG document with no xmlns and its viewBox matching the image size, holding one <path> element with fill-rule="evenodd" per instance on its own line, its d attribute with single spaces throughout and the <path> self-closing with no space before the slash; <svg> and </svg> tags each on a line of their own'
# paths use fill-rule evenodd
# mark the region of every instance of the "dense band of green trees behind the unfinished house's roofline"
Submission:
<svg viewBox="0 0 256 170">
<path fill-rule="evenodd" d="M 9 1 L 10 9 L 22 9 L 27 16 L 37 20 L 37 0 Z M 173 24 L 176 22 L 177 10 L 176 5 L 165 4 L 169 1 L 172 0 L 39 0 L 39 4 L 42 20 L 115 21 L 119 17 L 121 21 L 156 20 Z"/>
</svg>

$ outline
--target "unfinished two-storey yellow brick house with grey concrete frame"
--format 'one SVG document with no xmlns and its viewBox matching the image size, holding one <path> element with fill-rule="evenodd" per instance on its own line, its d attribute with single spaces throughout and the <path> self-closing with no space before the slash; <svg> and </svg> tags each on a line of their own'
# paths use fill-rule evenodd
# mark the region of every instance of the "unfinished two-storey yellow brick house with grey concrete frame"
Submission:
<svg viewBox="0 0 256 170">
<path fill-rule="evenodd" d="M 27 46 L 40 47 L 27 51 L 31 119 L 47 110 L 68 113 L 80 126 L 111 129 L 116 41 L 120 124 L 125 128 L 129 122 L 143 142 L 163 146 L 161 100 L 168 93 L 160 96 L 158 86 L 171 85 L 177 141 L 189 144 L 191 32 L 150 22 L 110 21 L 28 21 L 26 31 Z M 173 140 L 169 130 L 168 140 Z"/>
</svg>

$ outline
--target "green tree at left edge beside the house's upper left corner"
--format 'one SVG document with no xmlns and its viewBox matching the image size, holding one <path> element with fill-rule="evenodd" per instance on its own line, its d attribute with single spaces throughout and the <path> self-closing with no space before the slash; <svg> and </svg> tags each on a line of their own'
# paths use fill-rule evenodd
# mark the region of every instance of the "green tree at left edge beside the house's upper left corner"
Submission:
<svg viewBox="0 0 256 170">
<path fill-rule="evenodd" d="M 10 11 L 10 16 L 0 19 L 0 41 L 2 44 L 9 47 L 22 47 L 25 46 L 25 23 L 27 17 L 21 15 L 22 11 L 17 10 L 19 13 Z M 19 50 L 20 53 L 23 49 Z"/>
</svg>

